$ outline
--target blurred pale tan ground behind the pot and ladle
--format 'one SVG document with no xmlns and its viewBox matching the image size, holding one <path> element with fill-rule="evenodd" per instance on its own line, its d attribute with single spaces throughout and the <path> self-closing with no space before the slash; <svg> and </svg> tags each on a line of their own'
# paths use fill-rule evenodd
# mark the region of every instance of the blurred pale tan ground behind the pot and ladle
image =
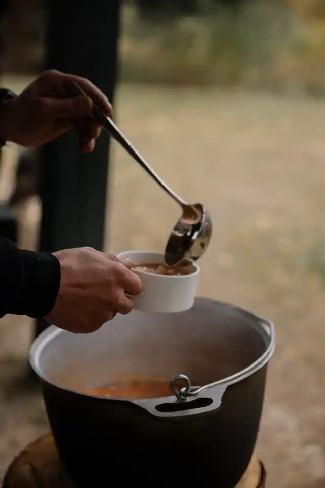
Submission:
<svg viewBox="0 0 325 488">
<path fill-rule="evenodd" d="M 115 105 L 155 170 L 211 212 L 199 294 L 275 322 L 258 441 L 269 486 L 325 486 L 325 103 L 124 85 Z M 179 209 L 115 145 L 111 169 L 106 249 L 163 249 Z M 31 202 L 20 214 L 28 246 L 35 209 Z M 1 471 L 48 429 L 39 392 L 21 380 L 29 341 L 28 321 L 3 320 Z"/>
</svg>

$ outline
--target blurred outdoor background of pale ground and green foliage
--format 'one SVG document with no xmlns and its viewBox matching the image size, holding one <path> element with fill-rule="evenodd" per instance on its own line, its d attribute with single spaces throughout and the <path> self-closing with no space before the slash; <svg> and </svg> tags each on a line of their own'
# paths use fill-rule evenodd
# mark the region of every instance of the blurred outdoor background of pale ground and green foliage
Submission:
<svg viewBox="0 0 325 488">
<path fill-rule="evenodd" d="M 18 93 L 44 69 L 45 19 L 40 0 L 13 1 L 3 15 L 2 86 Z M 199 294 L 276 324 L 258 443 L 268 483 L 325 486 L 325 2 L 124 2 L 119 55 L 118 125 L 212 214 Z M 0 200 L 18 152 L 3 150 Z M 28 185 L 14 209 L 19 243 L 32 249 L 41 211 Z M 113 143 L 105 249 L 161 251 L 178 214 Z M 1 472 L 48 430 L 24 380 L 30 340 L 28 320 L 2 320 Z"/>
</svg>

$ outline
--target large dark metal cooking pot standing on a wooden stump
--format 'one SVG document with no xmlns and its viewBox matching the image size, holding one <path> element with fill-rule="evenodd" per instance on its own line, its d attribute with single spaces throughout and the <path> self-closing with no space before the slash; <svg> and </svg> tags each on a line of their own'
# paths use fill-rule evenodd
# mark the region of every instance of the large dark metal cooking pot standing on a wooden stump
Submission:
<svg viewBox="0 0 325 488">
<path fill-rule="evenodd" d="M 30 350 L 55 441 L 77 486 L 186 482 L 233 488 L 254 451 L 273 325 L 208 299 L 189 311 L 117 316 L 90 335 L 49 327 Z M 79 393 L 171 380 L 166 398 Z M 190 388 L 188 379 L 194 387 Z M 174 483 L 174 484 L 173 484 Z M 208 484 L 206 486 L 209 486 Z"/>
</svg>

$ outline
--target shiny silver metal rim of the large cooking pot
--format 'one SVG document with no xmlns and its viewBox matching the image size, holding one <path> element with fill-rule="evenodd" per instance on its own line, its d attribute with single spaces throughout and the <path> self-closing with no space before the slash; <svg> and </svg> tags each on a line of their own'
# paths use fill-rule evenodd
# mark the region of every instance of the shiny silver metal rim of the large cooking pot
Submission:
<svg viewBox="0 0 325 488">
<path fill-rule="evenodd" d="M 245 315 L 253 318 L 256 321 L 256 328 L 257 326 L 259 330 L 261 328 L 264 330 L 265 333 L 265 340 L 268 341 L 268 346 L 264 353 L 259 356 L 256 361 L 251 363 L 247 368 L 244 368 L 241 371 L 238 371 L 234 375 L 228 376 L 226 378 L 222 378 L 219 381 L 216 381 L 214 383 L 211 383 L 209 386 L 211 388 L 215 388 L 221 385 L 226 385 L 230 386 L 235 383 L 239 383 L 240 381 L 248 378 L 249 376 L 252 376 L 254 373 L 257 373 L 257 371 L 261 370 L 271 359 L 273 356 L 274 350 L 275 350 L 275 331 L 274 331 L 274 324 L 270 320 L 266 319 L 265 317 L 261 315 L 256 315 L 242 307 L 238 307 L 235 305 L 232 305 L 227 302 L 223 301 L 218 301 L 214 300 L 211 298 L 197 298 L 196 300 L 197 303 L 216 303 L 221 306 L 229 307 L 231 309 L 237 310 L 239 312 L 244 313 Z M 30 349 L 29 349 L 29 363 L 31 365 L 31 368 L 35 371 L 35 373 L 38 375 L 39 378 L 41 378 L 43 381 L 45 381 L 48 384 L 52 384 L 53 386 L 56 386 L 58 388 L 61 388 L 63 390 L 71 391 L 74 393 L 78 393 L 82 396 L 89 396 L 90 398 L 100 398 L 101 400 L 120 400 L 120 401 L 127 401 L 127 402 L 132 402 L 132 400 L 125 400 L 125 399 L 118 399 L 118 398 L 102 398 L 102 397 L 95 397 L 92 395 L 88 395 L 86 393 L 78 392 L 76 390 L 62 387 L 61 385 L 55 384 L 54 382 L 49 381 L 46 376 L 43 374 L 41 368 L 40 368 L 40 357 L 46 346 L 55 338 L 57 335 L 61 333 L 69 333 L 66 330 L 59 329 L 55 327 L 54 325 L 50 325 L 46 330 L 44 330 L 36 339 L 35 341 L 31 344 Z M 177 372 L 179 373 L 179 372 Z M 186 373 L 186 372 L 183 372 Z M 202 385 L 203 386 L 203 385 Z M 172 396 L 172 395 L 171 395 Z M 150 400 L 150 399 L 148 399 Z"/>
</svg>

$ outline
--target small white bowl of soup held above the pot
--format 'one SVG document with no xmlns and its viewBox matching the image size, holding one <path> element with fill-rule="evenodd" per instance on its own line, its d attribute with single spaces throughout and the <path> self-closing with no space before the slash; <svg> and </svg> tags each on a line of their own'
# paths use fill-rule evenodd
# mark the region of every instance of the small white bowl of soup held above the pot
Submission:
<svg viewBox="0 0 325 488">
<path fill-rule="evenodd" d="M 124 251 L 117 255 L 134 264 L 164 264 L 163 254 L 151 251 Z M 142 292 L 132 297 L 134 308 L 143 312 L 183 312 L 192 307 L 197 291 L 200 268 L 189 264 L 188 275 L 155 275 L 133 269 L 142 282 Z"/>
</svg>

